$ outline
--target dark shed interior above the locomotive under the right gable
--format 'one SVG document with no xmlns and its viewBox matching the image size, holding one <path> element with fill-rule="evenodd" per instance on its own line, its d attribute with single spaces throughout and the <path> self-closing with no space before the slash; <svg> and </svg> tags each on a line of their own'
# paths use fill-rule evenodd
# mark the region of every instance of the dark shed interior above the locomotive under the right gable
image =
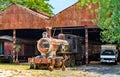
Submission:
<svg viewBox="0 0 120 77">
<path fill-rule="evenodd" d="M 59 33 L 63 33 L 63 34 L 73 34 L 73 35 L 77 35 L 77 36 L 81 36 L 85 38 L 85 29 L 84 28 L 56 28 L 53 29 L 52 32 L 53 36 L 58 35 Z M 95 42 L 99 42 L 100 41 L 100 29 L 98 28 L 89 28 L 88 29 L 88 39 L 90 41 L 95 41 Z"/>
</svg>

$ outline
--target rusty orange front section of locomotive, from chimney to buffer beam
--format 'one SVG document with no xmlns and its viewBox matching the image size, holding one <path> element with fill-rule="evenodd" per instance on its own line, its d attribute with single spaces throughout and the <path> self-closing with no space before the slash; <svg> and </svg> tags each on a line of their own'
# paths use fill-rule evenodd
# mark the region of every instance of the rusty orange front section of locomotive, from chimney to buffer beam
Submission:
<svg viewBox="0 0 120 77">
<path fill-rule="evenodd" d="M 30 68 L 48 68 L 53 70 L 54 67 L 61 67 L 65 70 L 66 56 L 56 56 L 56 52 L 61 50 L 67 51 L 69 43 L 63 39 L 55 39 L 47 37 L 47 33 L 43 33 L 43 38 L 38 40 L 37 49 L 41 53 L 40 56 L 28 58 Z"/>
</svg>

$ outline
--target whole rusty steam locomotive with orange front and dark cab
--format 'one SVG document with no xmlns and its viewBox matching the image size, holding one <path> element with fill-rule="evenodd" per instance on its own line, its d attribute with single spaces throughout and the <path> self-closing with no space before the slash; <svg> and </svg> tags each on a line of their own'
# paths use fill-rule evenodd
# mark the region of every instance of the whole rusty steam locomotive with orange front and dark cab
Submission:
<svg viewBox="0 0 120 77">
<path fill-rule="evenodd" d="M 47 37 L 43 33 L 43 38 L 37 42 L 40 56 L 28 58 L 30 68 L 48 68 L 75 66 L 85 63 L 85 43 L 84 38 L 72 34 L 59 34 L 54 38 Z M 89 42 L 89 62 L 99 58 L 101 45 Z"/>
</svg>

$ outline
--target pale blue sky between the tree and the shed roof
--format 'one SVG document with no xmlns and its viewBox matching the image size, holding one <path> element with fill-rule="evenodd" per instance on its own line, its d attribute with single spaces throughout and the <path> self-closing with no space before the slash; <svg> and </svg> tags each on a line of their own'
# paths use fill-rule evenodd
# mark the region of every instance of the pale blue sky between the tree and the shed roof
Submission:
<svg viewBox="0 0 120 77">
<path fill-rule="evenodd" d="M 54 7 L 53 13 L 57 14 L 77 1 L 78 0 L 49 0 L 49 4 Z"/>
</svg>

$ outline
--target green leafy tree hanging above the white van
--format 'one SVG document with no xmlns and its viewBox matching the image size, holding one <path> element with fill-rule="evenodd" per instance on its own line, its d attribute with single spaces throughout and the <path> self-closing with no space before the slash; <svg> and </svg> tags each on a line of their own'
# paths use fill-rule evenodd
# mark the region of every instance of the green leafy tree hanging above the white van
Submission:
<svg viewBox="0 0 120 77">
<path fill-rule="evenodd" d="M 101 31 L 101 40 L 120 44 L 120 0 L 80 0 L 79 6 L 98 4 L 94 9 L 98 13 L 95 20 Z"/>
</svg>

